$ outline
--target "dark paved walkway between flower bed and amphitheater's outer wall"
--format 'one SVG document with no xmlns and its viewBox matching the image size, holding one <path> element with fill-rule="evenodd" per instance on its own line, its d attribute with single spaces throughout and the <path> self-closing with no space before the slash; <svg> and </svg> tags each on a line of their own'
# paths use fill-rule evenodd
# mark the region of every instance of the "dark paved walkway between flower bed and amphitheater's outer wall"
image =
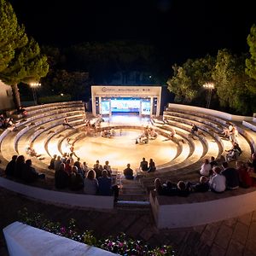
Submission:
<svg viewBox="0 0 256 256">
<path fill-rule="evenodd" d="M 95 230 L 98 237 L 125 232 L 151 245 L 172 245 L 177 255 L 256 256 L 256 211 L 240 218 L 188 229 L 157 230 L 150 208 L 116 208 L 113 212 L 95 212 L 45 205 L 0 189 L 0 228 L 17 220 L 17 212 L 41 212 L 49 219 L 66 223 L 75 218 L 81 229 Z M 0 255 L 8 255 L 0 236 Z"/>
</svg>

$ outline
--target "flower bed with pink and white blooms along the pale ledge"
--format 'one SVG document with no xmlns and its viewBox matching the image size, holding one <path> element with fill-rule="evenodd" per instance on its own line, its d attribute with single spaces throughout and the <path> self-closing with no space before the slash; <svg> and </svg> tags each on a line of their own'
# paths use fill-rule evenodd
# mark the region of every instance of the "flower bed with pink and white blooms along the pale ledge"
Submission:
<svg viewBox="0 0 256 256">
<path fill-rule="evenodd" d="M 20 222 L 31 225 L 35 228 L 54 233 L 58 236 L 65 236 L 74 241 L 84 242 L 87 245 L 95 246 L 120 255 L 138 255 L 138 256 L 161 256 L 174 255 L 171 246 L 150 247 L 144 241 L 133 240 L 124 233 L 119 236 L 109 236 L 105 239 L 96 239 L 93 231 L 85 230 L 80 232 L 76 226 L 75 219 L 70 219 L 67 226 L 59 222 L 52 222 L 44 218 L 40 213 L 28 214 L 26 208 L 19 212 Z"/>
</svg>

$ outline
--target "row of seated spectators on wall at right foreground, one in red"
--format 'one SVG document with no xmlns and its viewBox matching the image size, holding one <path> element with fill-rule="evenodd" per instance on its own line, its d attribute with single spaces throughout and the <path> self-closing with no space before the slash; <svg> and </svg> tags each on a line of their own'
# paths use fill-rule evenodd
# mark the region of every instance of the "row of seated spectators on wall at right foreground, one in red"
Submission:
<svg viewBox="0 0 256 256">
<path fill-rule="evenodd" d="M 256 154 L 252 154 L 250 161 L 236 161 L 236 168 L 231 167 L 227 161 L 218 166 L 218 162 L 204 160 L 200 170 L 198 183 L 183 182 L 172 183 L 166 181 L 161 183 L 160 178 L 154 180 L 154 190 L 158 195 L 180 195 L 188 196 L 192 192 L 223 193 L 225 190 L 234 190 L 256 186 Z"/>
</svg>

